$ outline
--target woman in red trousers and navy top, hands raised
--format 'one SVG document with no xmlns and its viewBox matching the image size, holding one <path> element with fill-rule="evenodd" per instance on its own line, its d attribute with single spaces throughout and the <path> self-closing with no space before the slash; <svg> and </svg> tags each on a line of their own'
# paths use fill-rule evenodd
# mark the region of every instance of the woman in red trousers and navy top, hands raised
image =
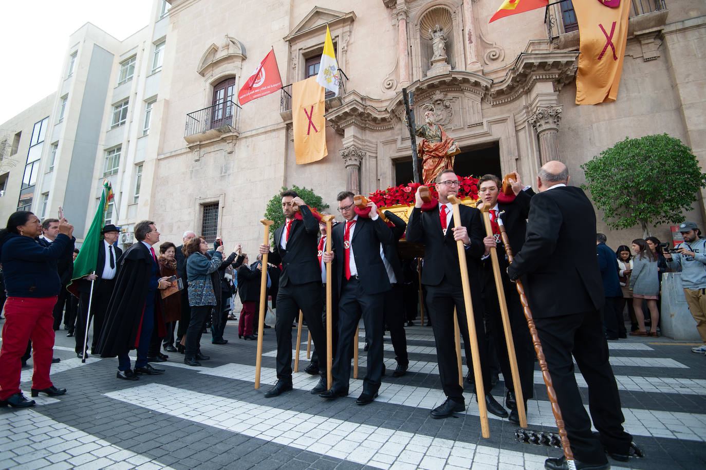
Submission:
<svg viewBox="0 0 706 470">
<path fill-rule="evenodd" d="M 62 219 L 59 235 L 48 247 L 35 239 L 42 234 L 40 219 L 32 212 L 18 211 L 0 230 L 0 262 L 5 277 L 7 301 L 0 348 L 0 406 L 25 408 L 35 404 L 20 390 L 20 357 L 31 339 L 34 349 L 32 397 L 66 393 L 49 380 L 54 349 L 52 311 L 61 289 L 56 260 L 73 251 L 73 225 Z"/>
</svg>

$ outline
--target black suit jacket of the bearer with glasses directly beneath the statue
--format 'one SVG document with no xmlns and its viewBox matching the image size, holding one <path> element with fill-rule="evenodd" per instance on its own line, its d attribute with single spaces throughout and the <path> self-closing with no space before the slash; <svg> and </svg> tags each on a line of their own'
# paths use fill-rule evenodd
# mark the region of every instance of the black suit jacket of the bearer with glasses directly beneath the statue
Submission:
<svg viewBox="0 0 706 470">
<path fill-rule="evenodd" d="M 472 278 L 477 278 L 479 259 L 485 252 L 483 238 L 485 230 L 481 212 L 475 207 L 460 205 L 461 225 L 466 227 L 471 239 L 466 249 L 466 264 Z M 407 241 L 424 243 L 424 266 L 421 269 L 421 283 L 438 286 L 446 279 L 453 285 L 461 285 L 461 270 L 458 249 L 453 239 L 453 217 L 446 234 L 441 230 L 438 205 L 434 210 L 421 212 L 418 207 L 412 209 L 407 223 Z"/>
</svg>

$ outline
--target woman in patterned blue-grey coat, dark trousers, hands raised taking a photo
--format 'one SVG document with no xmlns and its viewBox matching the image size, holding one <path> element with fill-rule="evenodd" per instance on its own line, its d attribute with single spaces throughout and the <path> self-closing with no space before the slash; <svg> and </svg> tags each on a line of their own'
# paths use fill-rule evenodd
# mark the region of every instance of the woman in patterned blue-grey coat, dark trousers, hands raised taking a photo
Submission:
<svg viewBox="0 0 706 470">
<path fill-rule="evenodd" d="M 208 243 L 196 236 L 186 243 L 186 278 L 189 281 L 189 306 L 191 320 L 186 330 L 186 352 L 184 363 L 189 366 L 201 366 L 198 361 L 208 359 L 201 354 L 201 332 L 203 323 L 216 305 L 211 273 L 215 272 L 223 261 L 223 246 L 219 246 L 208 259 Z M 220 295 L 220 292 L 218 293 Z"/>
</svg>

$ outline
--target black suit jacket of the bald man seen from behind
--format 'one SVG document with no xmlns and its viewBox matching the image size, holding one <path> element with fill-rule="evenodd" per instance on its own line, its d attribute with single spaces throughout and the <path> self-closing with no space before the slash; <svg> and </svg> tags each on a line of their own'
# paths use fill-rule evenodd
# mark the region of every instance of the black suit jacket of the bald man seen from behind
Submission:
<svg viewBox="0 0 706 470">
<path fill-rule="evenodd" d="M 595 238 L 596 214 L 581 188 L 549 189 L 532 198 L 525 244 L 508 272 L 510 279 L 522 276 L 535 317 L 603 306 Z"/>
</svg>

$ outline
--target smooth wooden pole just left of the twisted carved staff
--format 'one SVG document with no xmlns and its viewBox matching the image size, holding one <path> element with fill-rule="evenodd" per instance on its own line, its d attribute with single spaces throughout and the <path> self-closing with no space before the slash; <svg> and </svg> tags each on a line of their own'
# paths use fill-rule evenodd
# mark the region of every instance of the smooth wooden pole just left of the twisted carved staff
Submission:
<svg viewBox="0 0 706 470">
<path fill-rule="evenodd" d="M 483 220 L 486 227 L 486 235 L 493 236 L 493 226 L 490 222 L 490 205 L 478 200 L 476 203 L 483 213 Z M 505 299 L 505 288 L 500 272 L 500 262 L 498 261 L 498 249 L 495 246 L 490 248 L 490 259 L 493 265 L 493 277 L 495 277 L 495 289 L 498 293 L 498 303 L 500 304 L 500 318 L 503 320 L 503 330 L 505 330 L 505 344 L 508 347 L 508 359 L 510 361 L 510 375 L 513 377 L 513 387 L 515 389 L 515 402 L 517 403 L 517 415 L 520 417 L 520 427 L 527 428 L 527 414 L 525 412 L 525 399 L 522 397 L 522 384 L 520 383 L 520 370 L 517 369 L 517 355 L 515 354 L 515 342 L 513 332 L 510 329 L 510 314 L 508 313 L 508 301 Z"/>
</svg>

